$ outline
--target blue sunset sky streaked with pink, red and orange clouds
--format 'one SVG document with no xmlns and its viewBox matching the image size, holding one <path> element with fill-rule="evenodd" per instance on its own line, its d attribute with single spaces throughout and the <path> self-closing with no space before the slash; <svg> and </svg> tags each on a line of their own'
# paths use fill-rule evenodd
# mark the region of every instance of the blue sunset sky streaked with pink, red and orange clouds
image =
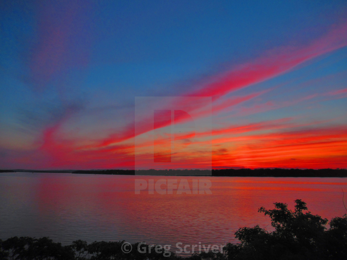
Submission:
<svg viewBox="0 0 347 260">
<path fill-rule="evenodd" d="M 346 1 L 1 1 L 0 168 L 347 168 Z"/>
</svg>

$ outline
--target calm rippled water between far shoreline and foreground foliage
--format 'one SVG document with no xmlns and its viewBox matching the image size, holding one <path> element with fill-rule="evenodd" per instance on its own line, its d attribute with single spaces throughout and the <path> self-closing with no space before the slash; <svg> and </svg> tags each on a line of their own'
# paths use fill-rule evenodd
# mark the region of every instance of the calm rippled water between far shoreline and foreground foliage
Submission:
<svg viewBox="0 0 347 260">
<path fill-rule="evenodd" d="M 212 194 L 135 194 L 135 179 L 209 179 Z M 346 214 L 346 178 L 162 177 L 56 173 L 0 174 L 0 239 L 49 236 L 153 244 L 220 244 L 239 227 L 272 230 L 261 206 L 303 199 L 329 220 Z M 175 193 L 175 192 L 174 192 Z"/>
</svg>

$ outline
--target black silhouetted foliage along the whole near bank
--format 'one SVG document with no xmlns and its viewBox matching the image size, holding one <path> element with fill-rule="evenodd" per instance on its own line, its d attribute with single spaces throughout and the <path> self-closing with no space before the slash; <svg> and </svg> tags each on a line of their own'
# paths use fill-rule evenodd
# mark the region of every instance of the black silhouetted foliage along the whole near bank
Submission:
<svg viewBox="0 0 347 260">
<path fill-rule="evenodd" d="M 307 211 L 306 203 L 295 200 L 295 210 L 289 210 L 285 203 L 274 203 L 275 208 L 267 210 L 261 207 L 258 211 L 271 218 L 273 232 L 260 228 L 243 227 L 235 233 L 240 241 L 229 243 L 222 253 L 202 252 L 191 257 L 182 258 L 171 252 L 166 256 L 151 250 L 151 253 L 140 253 L 137 245 L 124 253 L 121 249 L 124 241 L 93 242 L 77 240 L 71 245 L 62 246 L 47 237 L 34 239 L 31 237 L 12 237 L 0 240 L 0 259 L 23 260 L 229 260 L 229 259 L 346 259 L 347 255 L 347 214 L 335 217 L 330 221 L 330 228 L 325 225 L 328 219 L 313 215 Z"/>
</svg>

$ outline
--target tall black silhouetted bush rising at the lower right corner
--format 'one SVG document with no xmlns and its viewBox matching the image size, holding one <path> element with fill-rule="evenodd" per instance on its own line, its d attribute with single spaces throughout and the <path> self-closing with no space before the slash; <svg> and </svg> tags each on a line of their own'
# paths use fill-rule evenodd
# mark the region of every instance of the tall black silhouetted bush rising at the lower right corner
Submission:
<svg viewBox="0 0 347 260">
<path fill-rule="evenodd" d="M 295 203 L 294 211 L 279 202 L 272 210 L 261 207 L 258 211 L 270 216 L 275 230 L 240 228 L 235 237 L 241 243 L 227 245 L 228 259 L 346 259 L 347 215 L 333 218 L 325 231 L 328 219 L 307 211 L 302 200 Z"/>
</svg>

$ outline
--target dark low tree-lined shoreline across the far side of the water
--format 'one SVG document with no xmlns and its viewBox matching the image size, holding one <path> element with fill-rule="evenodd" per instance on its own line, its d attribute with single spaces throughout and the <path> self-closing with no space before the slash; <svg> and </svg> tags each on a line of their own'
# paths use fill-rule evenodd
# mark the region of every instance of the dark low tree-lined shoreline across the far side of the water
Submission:
<svg viewBox="0 0 347 260">
<path fill-rule="evenodd" d="M 347 177 L 347 169 L 221 169 L 221 170 L 0 170 L 2 172 L 74 173 L 151 176 L 224 176 L 224 177 Z M 212 175 L 211 175 L 212 173 Z"/>
</svg>

